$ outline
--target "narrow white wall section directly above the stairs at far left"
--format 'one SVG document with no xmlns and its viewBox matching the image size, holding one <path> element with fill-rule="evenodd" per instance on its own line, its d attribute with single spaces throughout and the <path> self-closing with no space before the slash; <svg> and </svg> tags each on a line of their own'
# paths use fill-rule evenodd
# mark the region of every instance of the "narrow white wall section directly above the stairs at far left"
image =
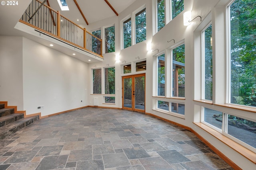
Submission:
<svg viewBox="0 0 256 170">
<path fill-rule="evenodd" d="M 22 37 L 0 36 L 0 101 L 23 110 Z"/>
</svg>

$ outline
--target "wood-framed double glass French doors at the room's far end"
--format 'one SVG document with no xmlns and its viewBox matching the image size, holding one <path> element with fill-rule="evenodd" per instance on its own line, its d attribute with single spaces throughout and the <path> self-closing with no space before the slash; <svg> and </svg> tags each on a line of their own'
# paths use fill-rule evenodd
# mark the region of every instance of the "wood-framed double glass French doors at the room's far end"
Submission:
<svg viewBox="0 0 256 170">
<path fill-rule="evenodd" d="M 145 74 L 122 77 L 122 108 L 145 112 Z"/>
</svg>

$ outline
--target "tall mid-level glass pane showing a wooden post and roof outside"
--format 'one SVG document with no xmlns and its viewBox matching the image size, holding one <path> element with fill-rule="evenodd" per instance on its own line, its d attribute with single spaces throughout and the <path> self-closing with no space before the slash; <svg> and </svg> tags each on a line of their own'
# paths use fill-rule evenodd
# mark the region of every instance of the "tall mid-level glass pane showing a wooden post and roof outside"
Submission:
<svg viewBox="0 0 256 170">
<path fill-rule="evenodd" d="M 172 50 L 172 96 L 185 97 L 185 45 Z"/>
</svg>

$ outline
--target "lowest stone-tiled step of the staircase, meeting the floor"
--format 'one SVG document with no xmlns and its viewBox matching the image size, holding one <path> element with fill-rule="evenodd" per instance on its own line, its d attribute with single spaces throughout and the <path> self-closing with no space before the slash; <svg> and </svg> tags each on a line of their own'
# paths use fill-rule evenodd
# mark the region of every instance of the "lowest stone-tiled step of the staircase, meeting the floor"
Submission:
<svg viewBox="0 0 256 170">
<path fill-rule="evenodd" d="M 17 120 L 13 123 L 0 127 L 0 141 L 12 135 L 13 133 L 23 129 L 24 127 L 36 122 L 39 120 L 39 115 L 33 117 L 26 117 L 20 120 Z"/>
</svg>

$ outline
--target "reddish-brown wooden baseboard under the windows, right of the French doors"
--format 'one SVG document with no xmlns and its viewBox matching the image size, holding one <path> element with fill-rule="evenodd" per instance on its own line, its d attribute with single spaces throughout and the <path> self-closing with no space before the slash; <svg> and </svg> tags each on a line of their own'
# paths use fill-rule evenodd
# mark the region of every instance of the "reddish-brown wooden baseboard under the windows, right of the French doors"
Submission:
<svg viewBox="0 0 256 170">
<path fill-rule="evenodd" d="M 211 143 L 209 143 L 208 141 L 206 141 L 206 139 L 204 139 L 201 135 L 199 135 L 196 131 L 194 131 L 191 127 L 182 125 L 180 123 L 176 123 L 174 121 L 165 119 L 163 117 L 154 115 L 152 113 L 145 113 L 146 115 L 150 115 L 153 117 L 156 117 L 158 119 L 161 119 L 163 121 L 166 121 L 168 123 L 172 123 L 174 125 L 180 126 L 184 129 L 187 129 L 189 131 L 191 131 L 192 133 L 194 133 L 194 135 L 196 135 L 202 142 L 204 142 L 210 149 L 212 149 L 218 156 L 220 156 L 220 158 L 222 158 L 225 162 L 227 162 L 232 168 L 234 168 L 235 170 L 242 170 L 238 165 L 236 165 L 232 160 L 230 160 L 226 155 L 224 155 L 222 152 L 220 152 L 218 149 L 216 149 Z"/>
</svg>

